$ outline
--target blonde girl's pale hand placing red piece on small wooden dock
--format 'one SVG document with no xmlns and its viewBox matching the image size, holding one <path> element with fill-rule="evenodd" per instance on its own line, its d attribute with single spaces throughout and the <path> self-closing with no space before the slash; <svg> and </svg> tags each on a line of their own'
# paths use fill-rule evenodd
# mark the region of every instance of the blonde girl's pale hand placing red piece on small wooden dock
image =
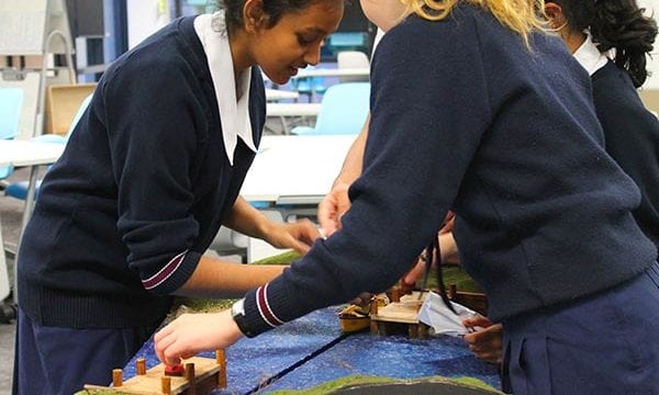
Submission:
<svg viewBox="0 0 659 395">
<path fill-rule="evenodd" d="M 156 356 L 168 365 L 194 357 L 201 351 L 224 349 L 243 337 L 231 311 L 183 314 L 154 337 Z"/>
</svg>

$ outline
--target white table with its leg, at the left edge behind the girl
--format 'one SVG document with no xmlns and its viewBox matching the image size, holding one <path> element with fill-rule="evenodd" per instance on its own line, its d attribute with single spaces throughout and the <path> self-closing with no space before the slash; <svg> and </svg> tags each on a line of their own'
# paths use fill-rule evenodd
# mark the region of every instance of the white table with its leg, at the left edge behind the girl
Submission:
<svg viewBox="0 0 659 395">
<path fill-rule="evenodd" d="M 0 166 L 30 167 L 30 181 L 27 183 L 27 196 L 23 208 L 23 218 L 21 221 L 21 237 L 23 230 L 30 221 L 32 208 L 34 205 L 34 190 L 36 189 L 37 169 L 42 165 L 54 163 L 64 151 L 65 146 L 60 144 L 38 143 L 31 140 L 0 140 Z M 5 268 L 4 262 L 4 244 L 0 235 L 0 246 L 2 255 L 0 257 L 1 264 Z M 20 245 L 20 237 L 19 237 Z M 18 261 L 16 251 L 16 261 Z M 16 264 L 14 264 L 14 293 L 13 300 L 18 302 L 19 292 L 15 286 Z"/>
</svg>

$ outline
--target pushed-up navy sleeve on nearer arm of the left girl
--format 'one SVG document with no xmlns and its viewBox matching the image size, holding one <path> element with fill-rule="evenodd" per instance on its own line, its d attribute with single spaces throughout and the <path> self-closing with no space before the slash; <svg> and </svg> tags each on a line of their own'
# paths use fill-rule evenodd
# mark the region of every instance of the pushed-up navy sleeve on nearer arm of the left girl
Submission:
<svg viewBox="0 0 659 395">
<path fill-rule="evenodd" d="M 104 84 L 118 229 L 146 290 L 169 294 L 194 271 L 199 233 L 190 174 L 203 128 L 199 88 L 182 59 L 133 54 Z"/>
</svg>

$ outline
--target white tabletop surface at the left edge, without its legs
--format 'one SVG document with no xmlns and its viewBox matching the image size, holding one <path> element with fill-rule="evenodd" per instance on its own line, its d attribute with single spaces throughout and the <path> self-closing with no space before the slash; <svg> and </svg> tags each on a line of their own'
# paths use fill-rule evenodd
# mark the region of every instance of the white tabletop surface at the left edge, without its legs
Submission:
<svg viewBox="0 0 659 395">
<path fill-rule="evenodd" d="M 64 144 L 0 139 L 0 166 L 34 166 L 55 162 Z"/>
</svg>

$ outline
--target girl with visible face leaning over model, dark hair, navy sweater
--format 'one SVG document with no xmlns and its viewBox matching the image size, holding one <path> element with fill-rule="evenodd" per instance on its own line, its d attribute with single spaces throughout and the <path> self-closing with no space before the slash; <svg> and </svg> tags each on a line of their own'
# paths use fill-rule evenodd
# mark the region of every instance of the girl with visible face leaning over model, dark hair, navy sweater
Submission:
<svg viewBox="0 0 659 395">
<path fill-rule="evenodd" d="M 221 225 L 309 249 L 311 222 L 271 223 L 238 191 L 265 122 L 261 69 L 286 83 L 317 64 L 342 15 L 334 0 L 228 0 L 104 72 L 23 236 L 14 393 L 107 385 L 171 295 L 238 295 L 281 272 L 202 256 Z"/>
</svg>

